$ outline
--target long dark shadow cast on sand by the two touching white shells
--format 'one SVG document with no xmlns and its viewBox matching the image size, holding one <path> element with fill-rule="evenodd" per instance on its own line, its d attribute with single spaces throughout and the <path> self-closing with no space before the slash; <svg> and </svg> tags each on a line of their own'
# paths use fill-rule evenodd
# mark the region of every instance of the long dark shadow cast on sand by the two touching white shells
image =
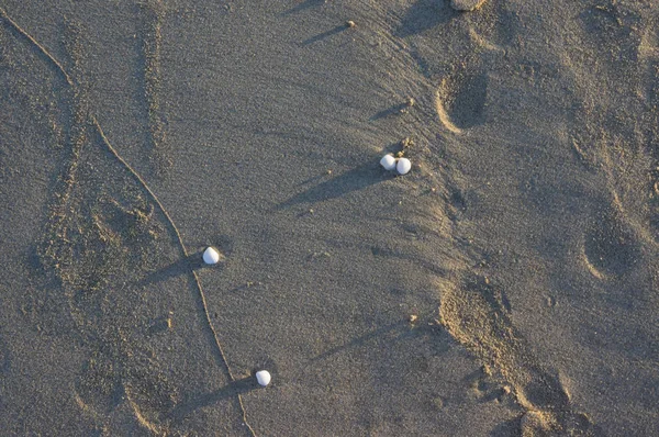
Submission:
<svg viewBox="0 0 659 437">
<path fill-rule="evenodd" d="M 387 177 L 382 176 L 382 171 L 380 171 L 379 166 L 376 167 L 371 163 L 365 164 L 348 172 L 337 176 L 336 178 L 330 179 L 323 183 L 319 183 L 306 191 L 293 195 L 291 199 L 277 205 L 277 210 L 284 210 L 300 203 L 316 203 L 335 199 L 349 192 L 361 190 L 386 180 L 386 178 Z"/>
</svg>

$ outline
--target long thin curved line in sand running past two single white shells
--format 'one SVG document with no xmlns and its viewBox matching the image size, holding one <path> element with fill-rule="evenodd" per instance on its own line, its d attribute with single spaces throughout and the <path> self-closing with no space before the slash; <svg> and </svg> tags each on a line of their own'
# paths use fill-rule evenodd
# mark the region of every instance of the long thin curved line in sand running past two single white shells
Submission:
<svg viewBox="0 0 659 437">
<path fill-rule="evenodd" d="M 30 33 L 27 33 L 25 30 L 23 30 L 23 27 L 21 27 L 8 13 L 7 11 L 0 7 L 0 20 L 3 20 L 7 25 L 13 30 L 14 32 L 16 32 L 20 36 L 22 36 L 23 38 L 25 38 L 34 48 L 37 49 L 37 52 L 40 54 L 42 54 L 43 56 L 45 56 L 46 60 L 48 63 L 51 63 L 51 65 L 54 66 L 55 70 L 62 75 L 66 81 L 66 83 L 71 88 L 75 89 L 76 85 L 74 82 L 74 80 L 71 79 L 71 77 L 69 76 L 69 74 L 66 71 L 66 69 L 64 68 L 64 66 L 51 54 L 51 52 L 45 48 L 42 44 L 40 44 L 32 35 L 30 35 Z M 115 157 L 115 159 L 126 169 L 129 170 L 129 172 L 135 178 L 135 180 L 137 181 L 137 183 L 139 183 L 139 186 L 148 193 L 148 195 L 152 198 L 152 200 L 156 203 L 156 205 L 158 206 L 158 209 L 160 210 L 160 212 L 163 213 L 163 215 L 165 216 L 165 218 L 167 220 L 167 223 L 170 227 L 170 229 L 174 232 L 174 234 L 176 235 L 176 240 L 178 243 L 178 246 L 180 248 L 180 251 L 182 254 L 182 256 L 185 258 L 187 258 L 189 256 L 188 254 L 188 249 L 186 248 L 186 245 L 182 240 L 181 234 L 178 229 L 178 226 L 176 225 L 176 223 L 171 220 L 171 216 L 169 215 L 169 213 L 167 212 L 167 210 L 165 209 L 165 206 L 163 205 L 163 203 L 160 202 L 160 200 L 158 199 L 158 197 L 156 195 L 156 193 L 153 192 L 153 190 L 148 187 L 148 184 L 146 183 L 146 181 L 139 176 L 139 173 L 137 173 L 137 171 L 125 160 L 121 157 L 121 155 L 116 152 L 116 149 L 111 145 L 110 141 L 108 139 L 108 137 L 105 136 L 103 130 L 101 128 L 100 123 L 98 122 L 97 117 L 89 113 L 88 114 L 89 120 L 93 123 L 97 132 L 99 133 L 100 137 L 103 141 L 103 144 L 105 145 L 105 147 L 108 148 L 108 150 Z M 75 157 L 75 160 L 77 160 L 77 157 Z M 201 300 L 202 306 L 203 306 L 203 312 L 204 312 L 204 318 L 205 318 L 205 323 L 208 324 L 208 326 L 210 327 L 213 337 L 214 337 L 214 346 L 220 355 L 220 358 L 222 360 L 222 362 L 224 363 L 224 368 L 226 371 L 226 374 L 228 376 L 230 380 L 233 382 L 235 381 L 235 377 L 233 376 L 233 372 L 231 371 L 231 367 L 228 365 L 228 361 L 226 359 L 226 356 L 224 354 L 224 349 L 222 348 L 222 345 L 220 343 L 219 336 L 217 336 L 217 332 L 215 330 L 215 327 L 213 326 L 213 323 L 211 321 L 209 311 L 208 311 L 208 304 L 206 304 L 206 299 L 205 299 L 205 294 L 203 292 L 203 288 L 201 285 L 201 282 L 199 281 L 199 277 L 197 276 L 197 272 L 194 270 L 190 270 L 190 273 L 192 274 L 192 278 L 194 279 L 194 283 L 196 283 L 196 288 L 199 294 L 199 298 Z M 247 413 L 245 411 L 245 405 L 243 403 L 243 399 L 239 393 L 236 394 L 237 395 L 237 401 L 238 404 L 241 406 L 241 411 L 242 411 L 242 415 L 243 415 L 243 423 L 245 424 L 245 426 L 248 428 L 249 433 L 253 436 L 256 436 L 256 432 L 254 430 L 254 428 L 249 425 L 249 423 L 247 422 Z"/>
</svg>

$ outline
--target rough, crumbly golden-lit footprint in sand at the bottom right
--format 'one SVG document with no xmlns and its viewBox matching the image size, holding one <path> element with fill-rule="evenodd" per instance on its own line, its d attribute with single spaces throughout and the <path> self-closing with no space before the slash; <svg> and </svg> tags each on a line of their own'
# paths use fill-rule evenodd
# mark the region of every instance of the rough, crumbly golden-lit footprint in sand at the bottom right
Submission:
<svg viewBox="0 0 659 437">
<path fill-rule="evenodd" d="M 507 381 L 527 413 L 523 435 L 589 435 L 588 417 L 573 411 L 559 378 L 537 361 L 509 315 L 505 294 L 487 278 L 466 273 L 440 283 L 440 322 L 460 344 Z"/>
</svg>

